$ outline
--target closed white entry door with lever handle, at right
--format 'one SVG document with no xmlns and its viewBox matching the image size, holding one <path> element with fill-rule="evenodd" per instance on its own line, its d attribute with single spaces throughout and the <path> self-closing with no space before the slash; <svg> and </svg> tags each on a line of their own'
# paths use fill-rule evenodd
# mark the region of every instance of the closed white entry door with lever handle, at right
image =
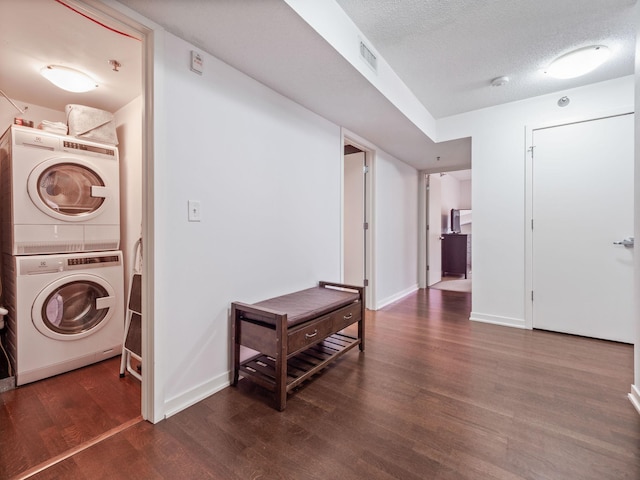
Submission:
<svg viewBox="0 0 640 480">
<path fill-rule="evenodd" d="M 634 342 L 632 114 L 533 131 L 534 328 Z"/>
</svg>

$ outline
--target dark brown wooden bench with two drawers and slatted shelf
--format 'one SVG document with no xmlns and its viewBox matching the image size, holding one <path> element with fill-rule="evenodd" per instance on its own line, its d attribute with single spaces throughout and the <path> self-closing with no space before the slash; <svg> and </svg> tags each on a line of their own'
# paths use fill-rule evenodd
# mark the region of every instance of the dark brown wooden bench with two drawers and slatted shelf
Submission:
<svg viewBox="0 0 640 480">
<path fill-rule="evenodd" d="M 252 305 L 233 302 L 233 379 L 240 374 L 275 394 L 287 393 L 356 345 L 364 351 L 364 288 L 320 282 Z M 357 336 L 343 330 L 358 323 Z M 241 347 L 255 354 L 241 360 Z"/>
</svg>

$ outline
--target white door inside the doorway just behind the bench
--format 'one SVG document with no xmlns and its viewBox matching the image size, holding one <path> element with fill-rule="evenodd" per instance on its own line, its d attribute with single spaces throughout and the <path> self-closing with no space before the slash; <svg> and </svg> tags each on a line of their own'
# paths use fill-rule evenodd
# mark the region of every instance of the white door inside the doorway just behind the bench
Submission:
<svg viewBox="0 0 640 480">
<path fill-rule="evenodd" d="M 364 285 L 365 153 L 344 156 L 344 283 Z"/>
</svg>

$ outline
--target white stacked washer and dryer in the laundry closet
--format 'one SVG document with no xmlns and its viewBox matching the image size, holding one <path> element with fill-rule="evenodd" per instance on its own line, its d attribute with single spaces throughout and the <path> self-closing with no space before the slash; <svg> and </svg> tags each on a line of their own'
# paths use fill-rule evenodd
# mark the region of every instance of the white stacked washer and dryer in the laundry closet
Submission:
<svg viewBox="0 0 640 480">
<path fill-rule="evenodd" d="M 117 147 L 12 125 L 0 138 L 2 284 L 16 385 L 119 355 Z"/>
</svg>

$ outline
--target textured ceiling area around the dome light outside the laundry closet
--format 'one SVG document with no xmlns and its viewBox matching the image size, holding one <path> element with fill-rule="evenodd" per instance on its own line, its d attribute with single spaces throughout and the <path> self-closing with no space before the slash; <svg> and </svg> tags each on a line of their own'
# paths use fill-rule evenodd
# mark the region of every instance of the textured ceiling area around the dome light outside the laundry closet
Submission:
<svg viewBox="0 0 640 480">
<path fill-rule="evenodd" d="M 337 0 L 436 118 L 633 73 L 634 0 Z M 574 80 L 543 69 L 573 49 L 613 56 Z M 506 75 L 510 83 L 491 87 Z"/>
</svg>

